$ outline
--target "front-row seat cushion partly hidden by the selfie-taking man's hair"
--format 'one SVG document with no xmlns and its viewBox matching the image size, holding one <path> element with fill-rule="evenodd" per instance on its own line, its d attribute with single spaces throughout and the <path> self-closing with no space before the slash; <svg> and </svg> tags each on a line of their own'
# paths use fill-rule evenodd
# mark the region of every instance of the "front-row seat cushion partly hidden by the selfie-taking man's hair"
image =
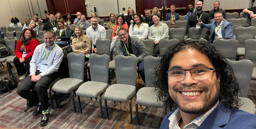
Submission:
<svg viewBox="0 0 256 129">
<path fill-rule="evenodd" d="M 147 106 L 147 107 L 156 107 L 162 108 L 164 107 L 163 103 L 158 103 L 157 95 L 153 92 L 153 87 L 143 87 L 139 89 L 137 92 L 136 103 L 139 105 Z"/>
</svg>

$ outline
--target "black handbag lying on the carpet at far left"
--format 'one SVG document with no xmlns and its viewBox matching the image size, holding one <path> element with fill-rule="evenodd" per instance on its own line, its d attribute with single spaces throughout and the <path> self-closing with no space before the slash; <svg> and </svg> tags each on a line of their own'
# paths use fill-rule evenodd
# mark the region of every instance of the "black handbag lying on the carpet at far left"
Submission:
<svg viewBox="0 0 256 129">
<path fill-rule="evenodd" d="M 10 92 L 11 90 L 15 89 L 18 86 L 18 81 L 17 79 L 12 76 L 9 80 L 7 80 L 6 78 L 1 79 L 0 80 L 0 93 L 6 93 L 6 92 Z"/>
</svg>

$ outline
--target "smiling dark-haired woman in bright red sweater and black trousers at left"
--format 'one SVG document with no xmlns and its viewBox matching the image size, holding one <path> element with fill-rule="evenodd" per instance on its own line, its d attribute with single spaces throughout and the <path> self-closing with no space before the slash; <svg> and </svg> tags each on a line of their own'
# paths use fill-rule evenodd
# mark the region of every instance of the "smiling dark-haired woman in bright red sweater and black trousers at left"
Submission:
<svg viewBox="0 0 256 129">
<path fill-rule="evenodd" d="M 17 69 L 17 73 L 21 76 L 19 79 L 23 80 L 26 78 L 27 72 L 29 72 L 29 62 L 34 54 L 36 46 L 39 45 L 34 33 L 27 29 L 25 33 L 22 34 L 21 38 L 18 40 L 16 45 L 16 58 L 14 58 L 13 63 Z M 25 63 L 25 67 L 24 67 Z"/>
</svg>

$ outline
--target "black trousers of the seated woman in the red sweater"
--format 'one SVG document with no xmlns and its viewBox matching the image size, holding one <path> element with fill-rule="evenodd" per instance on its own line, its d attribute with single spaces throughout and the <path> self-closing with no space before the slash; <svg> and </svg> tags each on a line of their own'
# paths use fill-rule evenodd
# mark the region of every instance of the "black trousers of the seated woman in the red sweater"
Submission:
<svg viewBox="0 0 256 129">
<path fill-rule="evenodd" d="M 32 57 L 29 57 L 25 60 L 25 66 L 24 63 L 20 63 L 19 59 L 17 57 L 15 57 L 13 59 L 13 64 L 15 65 L 16 69 L 17 69 L 17 73 L 19 76 L 24 75 L 26 72 L 28 72 L 28 75 L 30 74 L 29 72 L 29 62 L 31 61 Z"/>
</svg>

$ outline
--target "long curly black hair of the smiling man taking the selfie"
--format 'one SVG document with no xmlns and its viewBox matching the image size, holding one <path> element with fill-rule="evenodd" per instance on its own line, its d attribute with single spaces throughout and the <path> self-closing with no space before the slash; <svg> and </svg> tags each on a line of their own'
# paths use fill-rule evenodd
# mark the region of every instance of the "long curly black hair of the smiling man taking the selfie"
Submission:
<svg viewBox="0 0 256 129">
<path fill-rule="evenodd" d="M 216 69 L 217 79 L 220 78 L 218 100 L 222 101 L 227 108 L 239 108 L 239 84 L 233 72 L 233 68 L 212 44 L 199 40 L 181 41 L 165 50 L 165 54 L 161 57 L 159 65 L 154 69 L 155 79 L 153 84 L 158 96 L 158 101 L 162 101 L 169 108 L 178 107 L 168 92 L 168 75 L 166 71 L 168 71 L 170 61 L 176 53 L 189 49 L 197 50 L 207 55 L 214 69 Z"/>
</svg>

